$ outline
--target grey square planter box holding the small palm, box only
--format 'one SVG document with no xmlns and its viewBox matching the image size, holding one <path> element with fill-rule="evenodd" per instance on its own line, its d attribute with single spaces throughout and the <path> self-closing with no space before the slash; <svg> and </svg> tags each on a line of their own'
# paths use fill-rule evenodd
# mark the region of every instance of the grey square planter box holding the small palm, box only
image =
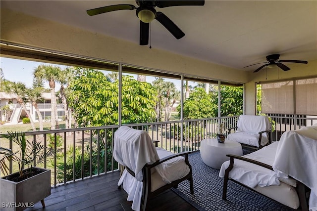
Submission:
<svg viewBox="0 0 317 211">
<path fill-rule="evenodd" d="M 23 211 L 41 200 L 44 205 L 44 198 L 51 195 L 51 170 L 43 170 L 45 171 L 21 182 L 4 179 L 7 176 L 0 178 L 0 210 Z"/>
</svg>

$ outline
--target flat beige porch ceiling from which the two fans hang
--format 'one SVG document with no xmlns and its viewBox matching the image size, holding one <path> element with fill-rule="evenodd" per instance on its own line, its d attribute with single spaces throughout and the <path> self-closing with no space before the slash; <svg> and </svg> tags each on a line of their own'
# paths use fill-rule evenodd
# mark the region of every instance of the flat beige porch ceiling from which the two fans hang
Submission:
<svg viewBox="0 0 317 211">
<path fill-rule="evenodd" d="M 1 8 L 25 12 L 63 24 L 139 43 L 136 10 L 89 16 L 87 9 L 132 0 L 1 0 Z M 317 59 L 317 1 L 206 0 L 204 6 L 157 8 L 184 33 L 176 40 L 160 23 L 151 23 L 151 45 L 224 66 L 253 71 L 265 56 Z M 144 46 L 148 47 L 148 46 Z M 287 65 L 287 63 L 284 63 Z M 305 65 L 305 64 L 303 64 Z"/>
</svg>

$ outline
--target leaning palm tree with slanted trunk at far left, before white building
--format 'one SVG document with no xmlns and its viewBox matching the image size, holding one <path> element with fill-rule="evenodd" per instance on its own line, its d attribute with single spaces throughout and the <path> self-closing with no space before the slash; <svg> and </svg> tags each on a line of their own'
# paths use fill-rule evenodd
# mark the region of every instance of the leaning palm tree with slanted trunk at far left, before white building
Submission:
<svg viewBox="0 0 317 211">
<path fill-rule="evenodd" d="M 36 127 L 34 125 L 33 119 L 31 118 L 31 114 L 29 110 L 26 109 L 24 99 L 25 99 L 25 93 L 27 92 L 27 87 L 22 82 L 10 82 L 4 85 L 5 92 L 9 94 L 13 94 L 16 96 L 17 102 L 22 106 L 28 117 L 30 118 L 31 126 L 33 131 L 36 131 Z"/>
</svg>

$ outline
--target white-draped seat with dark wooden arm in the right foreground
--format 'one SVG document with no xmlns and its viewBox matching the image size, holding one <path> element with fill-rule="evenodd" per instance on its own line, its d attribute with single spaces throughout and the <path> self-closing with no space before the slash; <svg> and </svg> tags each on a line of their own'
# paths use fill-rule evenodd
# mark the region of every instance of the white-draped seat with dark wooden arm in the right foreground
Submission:
<svg viewBox="0 0 317 211">
<path fill-rule="evenodd" d="M 280 141 L 248 155 L 227 156 L 219 171 L 224 200 L 230 179 L 292 209 L 317 210 L 317 126 L 284 132 Z"/>
</svg>

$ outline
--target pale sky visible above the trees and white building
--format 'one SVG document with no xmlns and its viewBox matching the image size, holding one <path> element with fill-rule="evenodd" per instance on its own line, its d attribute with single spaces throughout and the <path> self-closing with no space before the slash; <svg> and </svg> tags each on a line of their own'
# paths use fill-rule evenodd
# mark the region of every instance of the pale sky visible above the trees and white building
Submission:
<svg viewBox="0 0 317 211">
<path fill-rule="evenodd" d="M 4 58 L 0 57 L 0 68 L 3 71 L 4 79 L 11 81 L 11 82 L 23 82 L 26 84 L 28 88 L 32 87 L 33 82 L 33 70 L 37 68 L 39 65 L 48 64 L 44 62 L 34 62 L 28 60 L 20 60 L 20 59 L 11 59 L 11 58 Z M 62 69 L 66 66 L 63 65 L 56 65 L 60 66 Z M 105 71 L 106 72 L 106 71 Z M 136 75 L 133 75 L 136 79 Z M 155 77 L 147 76 L 146 81 L 152 83 L 155 80 Z M 178 90 L 180 90 L 180 80 L 174 79 L 165 79 L 166 82 L 173 82 Z M 190 83 L 190 85 L 195 85 L 194 83 Z M 45 84 L 46 88 L 49 88 L 49 84 Z M 56 84 L 55 91 L 59 90 L 60 85 Z"/>
</svg>

